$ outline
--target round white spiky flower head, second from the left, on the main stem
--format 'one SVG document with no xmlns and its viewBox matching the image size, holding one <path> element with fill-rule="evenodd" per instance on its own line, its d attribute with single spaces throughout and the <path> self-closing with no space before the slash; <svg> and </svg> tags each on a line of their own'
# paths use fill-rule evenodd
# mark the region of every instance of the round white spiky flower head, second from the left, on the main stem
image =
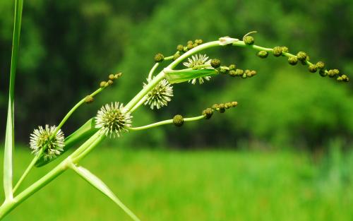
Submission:
<svg viewBox="0 0 353 221">
<path fill-rule="evenodd" d="M 126 127 L 131 126 L 132 116 L 124 110 L 124 104 L 112 102 L 105 104 L 97 112 L 95 117 L 95 128 L 100 129 L 109 138 L 119 137 L 121 132 L 128 131 Z"/>
</svg>

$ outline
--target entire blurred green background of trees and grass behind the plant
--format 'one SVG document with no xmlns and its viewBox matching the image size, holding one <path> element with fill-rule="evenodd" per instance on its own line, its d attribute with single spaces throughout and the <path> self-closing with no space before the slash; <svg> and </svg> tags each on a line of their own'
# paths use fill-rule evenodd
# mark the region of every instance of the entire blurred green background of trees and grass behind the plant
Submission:
<svg viewBox="0 0 353 221">
<path fill-rule="evenodd" d="M 256 44 L 305 51 L 311 61 L 352 78 L 352 13 L 349 0 L 25 1 L 16 79 L 17 176 L 30 161 L 28 137 L 35 127 L 58 124 L 109 73 L 124 76 L 80 107 L 64 133 L 106 102 L 128 102 L 141 89 L 153 56 L 172 55 L 188 40 L 241 38 L 257 30 Z M 1 140 L 12 29 L 13 1 L 0 1 Z M 124 134 L 106 141 L 85 165 L 143 220 L 353 220 L 352 80 L 321 78 L 306 66 L 289 66 L 282 57 L 259 59 L 244 48 L 207 54 L 258 75 L 174 85 L 167 107 L 138 109 L 133 125 L 195 116 L 217 102 L 235 100 L 237 108 L 180 129 Z M 8 220 L 28 220 L 25 213 L 33 220 L 128 220 L 93 191 L 65 174 Z"/>
</svg>

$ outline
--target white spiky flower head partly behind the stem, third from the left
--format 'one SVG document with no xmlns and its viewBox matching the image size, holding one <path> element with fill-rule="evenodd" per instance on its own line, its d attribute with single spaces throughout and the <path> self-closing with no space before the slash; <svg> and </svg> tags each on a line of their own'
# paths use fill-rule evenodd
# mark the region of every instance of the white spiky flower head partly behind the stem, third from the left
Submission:
<svg viewBox="0 0 353 221">
<path fill-rule="evenodd" d="M 147 83 L 143 83 L 143 88 L 150 83 L 150 80 L 147 79 Z M 173 86 L 168 82 L 168 80 L 161 80 L 155 88 L 153 88 L 146 95 L 147 100 L 145 101 L 145 105 L 150 105 L 151 109 L 157 107 L 160 109 L 161 107 L 167 106 L 168 102 L 172 100 L 173 97 Z"/>
</svg>

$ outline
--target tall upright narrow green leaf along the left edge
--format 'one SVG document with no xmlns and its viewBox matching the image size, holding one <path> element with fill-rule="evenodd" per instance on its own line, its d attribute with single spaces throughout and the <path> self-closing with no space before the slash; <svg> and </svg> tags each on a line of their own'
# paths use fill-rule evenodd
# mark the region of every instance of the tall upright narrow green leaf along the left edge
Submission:
<svg viewBox="0 0 353 221">
<path fill-rule="evenodd" d="M 20 44 L 20 27 L 22 20 L 23 0 L 15 1 L 15 18 L 13 21 L 13 40 L 11 52 L 10 86 L 8 89 L 8 112 L 6 121 L 5 150 L 4 150 L 4 191 L 6 200 L 13 198 L 12 192 L 12 152 L 15 143 L 14 134 L 14 95 L 15 78 L 18 61 L 18 46 Z"/>
</svg>

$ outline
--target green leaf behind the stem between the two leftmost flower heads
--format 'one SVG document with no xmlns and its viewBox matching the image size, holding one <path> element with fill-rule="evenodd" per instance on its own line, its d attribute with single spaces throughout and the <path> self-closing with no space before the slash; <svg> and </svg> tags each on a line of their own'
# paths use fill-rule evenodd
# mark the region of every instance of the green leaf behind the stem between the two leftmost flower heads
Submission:
<svg viewBox="0 0 353 221">
<path fill-rule="evenodd" d="M 83 124 L 83 126 L 77 129 L 75 132 L 71 133 L 70 136 L 65 138 L 64 151 L 61 153 L 61 155 L 65 153 L 67 150 L 69 150 L 70 148 L 72 148 L 74 145 L 78 145 L 78 143 L 85 141 L 87 138 L 92 136 L 97 131 L 98 129 L 95 128 L 95 119 L 94 118 L 89 119 L 85 124 Z M 59 157 L 61 155 L 59 155 Z M 57 158 L 58 157 L 52 158 L 51 160 L 44 160 L 44 156 L 42 156 L 35 163 L 35 167 L 42 167 L 44 165 L 47 165 L 49 162 L 52 162 Z"/>
</svg>

